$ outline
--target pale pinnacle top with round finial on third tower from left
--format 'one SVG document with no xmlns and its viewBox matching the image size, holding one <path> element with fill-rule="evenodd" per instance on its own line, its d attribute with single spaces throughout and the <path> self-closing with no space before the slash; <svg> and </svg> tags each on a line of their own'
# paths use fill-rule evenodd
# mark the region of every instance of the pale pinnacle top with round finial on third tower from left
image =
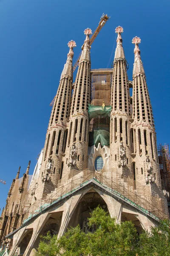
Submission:
<svg viewBox="0 0 170 256">
<path fill-rule="evenodd" d="M 123 28 L 121 26 L 116 27 L 115 32 L 117 33 L 117 45 L 116 45 L 116 51 L 114 55 L 114 59 L 122 59 L 125 58 L 124 49 L 122 46 L 122 36 L 121 33 L 123 33 Z"/>
</svg>

